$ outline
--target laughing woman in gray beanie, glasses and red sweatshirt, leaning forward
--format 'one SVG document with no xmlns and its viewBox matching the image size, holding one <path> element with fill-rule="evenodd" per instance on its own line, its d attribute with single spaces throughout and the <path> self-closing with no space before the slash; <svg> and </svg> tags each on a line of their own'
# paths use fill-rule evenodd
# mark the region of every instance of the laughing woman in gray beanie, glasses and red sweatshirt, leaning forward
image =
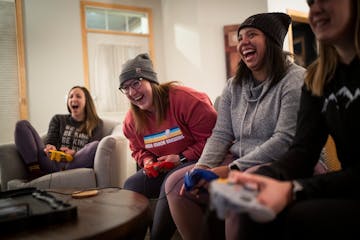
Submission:
<svg viewBox="0 0 360 240">
<path fill-rule="evenodd" d="M 148 54 L 140 54 L 123 65 L 119 89 L 131 103 L 123 132 L 140 168 L 126 180 L 124 188 L 158 198 L 151 239 L 170 239 L 176 227 L 164 179 L 171 169 L 199 159 L 215 125 L 216 111 L 205 93 L 175 82 L 160 84 Z"/>
</svg>

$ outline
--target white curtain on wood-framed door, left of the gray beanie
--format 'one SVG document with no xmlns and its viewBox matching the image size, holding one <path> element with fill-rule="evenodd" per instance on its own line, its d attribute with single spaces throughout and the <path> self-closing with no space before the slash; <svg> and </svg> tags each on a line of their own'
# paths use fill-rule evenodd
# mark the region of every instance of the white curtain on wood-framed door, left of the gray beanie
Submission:
<svg viewBox="0 0 360 240">
<path fill-rule="evenodd" d="M 122 65 L 139 53 L 149 52 L 145 37 L 88 33 L 90 91 L 102 116 L 123 117 L 129 100 L 119 91 Z"/>
</svg>

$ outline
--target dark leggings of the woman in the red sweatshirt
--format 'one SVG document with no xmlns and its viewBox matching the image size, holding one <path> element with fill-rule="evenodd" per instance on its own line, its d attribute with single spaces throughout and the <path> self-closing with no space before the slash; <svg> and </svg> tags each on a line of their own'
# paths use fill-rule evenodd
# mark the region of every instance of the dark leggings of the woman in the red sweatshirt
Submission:
<svg viewBox="0 0 360 240">
<path fill-rule="evenodd" d="M 171 239 L 176 230 L 170 214 L 164 183 L 171 173 L 189 164 L 191 163 L 181 164 L 167 174 L 161 174 L 156 178 L 147 177 L 141 169 L 125 181 L 124 189 L 141 193 L 149 199 L 157 199 L 154 217 L 150 224 L 151 239 L 153 240 Z"/>
</svg>

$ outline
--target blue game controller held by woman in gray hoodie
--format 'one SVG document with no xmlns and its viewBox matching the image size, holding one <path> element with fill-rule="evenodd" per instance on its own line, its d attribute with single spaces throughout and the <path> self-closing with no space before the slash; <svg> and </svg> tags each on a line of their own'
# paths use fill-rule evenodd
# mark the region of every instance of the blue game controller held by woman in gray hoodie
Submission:
<svg viewBox="0 0 360 240">
<path fill-rule="evenodd" d="M 191 191 L 201 179 L 210 182 L 217 178 L 219 178 L 219 176 L 216 175 L 213 171 L 205 170 L 201 168 L 195 168 L 192 171 L 188 171 L 185 173 L 184 176 L 185 190 Z"/>
</svg>

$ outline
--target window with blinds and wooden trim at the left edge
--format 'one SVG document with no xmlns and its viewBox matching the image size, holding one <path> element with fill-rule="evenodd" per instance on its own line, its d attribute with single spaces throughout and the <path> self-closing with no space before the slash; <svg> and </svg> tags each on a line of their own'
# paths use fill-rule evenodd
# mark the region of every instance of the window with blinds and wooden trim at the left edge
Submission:
<svg viewBox="0 0 360 240">
<path fill-rule="evenodd" d="M 27 119 L 22 1 L 0 1 L 0 143 L 14 140 L 17 120 Z"/>
</svg>

